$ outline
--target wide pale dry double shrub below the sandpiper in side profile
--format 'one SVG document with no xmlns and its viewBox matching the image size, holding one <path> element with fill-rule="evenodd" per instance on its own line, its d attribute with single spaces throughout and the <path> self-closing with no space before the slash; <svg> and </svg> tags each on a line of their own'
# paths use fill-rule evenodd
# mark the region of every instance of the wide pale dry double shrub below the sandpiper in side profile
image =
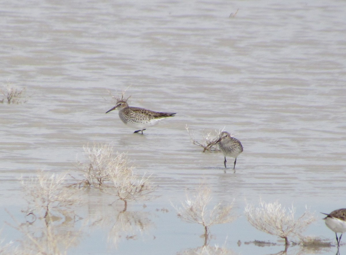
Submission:
<svg viewBox="0 0 346 255">
<path fill-rule="evenodd" d="M 86 162 L 79 162 L 78 170 L 85 179 L 76 185 L 99 188 L 107 194 L 118 197 L 124 202 L 149 200 L 155 187 L 151 176 L 140 176 L 128 165 L 125 153 L 114 153 L 109 144 L 94 144 L 93 148 L 84 148 Z"/>
</svg>

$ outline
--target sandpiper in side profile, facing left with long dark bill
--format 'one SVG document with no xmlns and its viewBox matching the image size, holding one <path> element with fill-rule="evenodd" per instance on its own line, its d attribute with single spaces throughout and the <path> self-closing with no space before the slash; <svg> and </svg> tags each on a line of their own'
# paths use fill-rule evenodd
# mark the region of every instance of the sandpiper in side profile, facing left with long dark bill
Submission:
<svg viewBox="0 0 346 255">
<path fill-rule="evenodd" d="M 158 121 L 166 117 L 174 116 L 176 113 L 162 113 L 154 112 L 139 107 L 128 106 L 126 100 L 119 100 L 113 108 L 109 109 L 106 113 L 113 111 L 115 109 L 119 110 L 119 117 L 125 124 L 138 128 L 134 133 L 142 132 L 146 130 L 148 126 L 157 124 Z"/>
</svg>

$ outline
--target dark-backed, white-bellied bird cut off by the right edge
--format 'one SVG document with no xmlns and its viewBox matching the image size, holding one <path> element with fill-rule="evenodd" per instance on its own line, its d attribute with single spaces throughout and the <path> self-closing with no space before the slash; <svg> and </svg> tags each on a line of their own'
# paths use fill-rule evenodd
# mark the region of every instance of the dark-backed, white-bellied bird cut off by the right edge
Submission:
<svg viewBox="0 0 346 255">
<path fill-rule="evenodd" d="M 331 213 L 324 213 L 327 217 L 323 218 L 328 228 L 335 232 L 336 241 L 338 247 L 340 247 L 340 240 L 343 236 L 343 233 L 346 232 L 346 208 L 337 209 Z M 337 233 L 341 233 L 338 238 Z"/>
</svg>

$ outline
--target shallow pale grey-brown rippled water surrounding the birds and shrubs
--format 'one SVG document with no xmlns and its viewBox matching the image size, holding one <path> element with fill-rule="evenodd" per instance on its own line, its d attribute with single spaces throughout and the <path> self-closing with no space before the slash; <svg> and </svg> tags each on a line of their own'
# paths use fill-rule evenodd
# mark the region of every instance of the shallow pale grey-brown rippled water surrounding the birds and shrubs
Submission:
<svg viewBox="0 0 346 255">
<path fill-rule="evenodd" d="M 115 234 L 121 237 L 111 245 L 116 207 L 85 192 L 83 216 L 108 221 L 83 227 L 68 254 L 200 247 L 202 227 L 182 222 L 171 205 L 200 182 L 211 188 L 213 204 L 235 200 L 242 217 L 213 226 L 210 245 L 236 254 L 283 250 L 277 238 L 249 225 L 245 200 L 279 199 L 298 213 L 307 205 L 318 218 L 346 207 L 346 2 L 2 1 L 0 8 L 1 82 L 25 87 L 27 96 L 24 104 L 0 105 L 5 243 L 21 238 L 4 223 L 12 222 L 5 208 L 23 220 L 20 176 L 73 172 L 83 146 L 93 142 L 127 152 L 137 173 L 155 177 L 160 197 L 130 202 L 128 218 L 145 227 L 133 223 L 135 230 Z M 177 115 L 133 134 L 117 112 L 104 114 L 115 103 L 107 89 L 117 94 L 128 86 L 130 105 Z M 233 132 L 244 146 L 237 172 L 224 174 L 223 156 L 202 153 L 185 125 L 197 136 L 203 129 Z M 306 234 L 334 240 L 322 220 Z M 244 244 L 255 239 L 279 245 Z"/>
</svg>

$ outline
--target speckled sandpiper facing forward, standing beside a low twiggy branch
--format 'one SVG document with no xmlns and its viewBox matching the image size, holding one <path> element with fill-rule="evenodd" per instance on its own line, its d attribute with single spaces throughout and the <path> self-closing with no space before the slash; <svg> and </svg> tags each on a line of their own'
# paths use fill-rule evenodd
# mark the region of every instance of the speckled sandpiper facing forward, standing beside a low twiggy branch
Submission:
<svg viewBox="0 0 346 255">
<path fill-rule="evenodd" d="M 222 153 L 224 153 L 225 173 L 226 173 L 226 162 L 227 162 L 226 156 L 235 158 L 234 166 L 233 166 L 233 169 L 235 169 L 237 157 L 240 153 L 243 152 L 243 146 L 240 143 L 240 141 L 235 139 L 234 137 L 231 137 L 230 133 L 223 131 L 220 134 L 220 138 L 215 143 L 219 143 L 220 150 L 222 151 Z M 236 172 L 236 170 L 234 170 L 234 172 Z"/>
</svg>

